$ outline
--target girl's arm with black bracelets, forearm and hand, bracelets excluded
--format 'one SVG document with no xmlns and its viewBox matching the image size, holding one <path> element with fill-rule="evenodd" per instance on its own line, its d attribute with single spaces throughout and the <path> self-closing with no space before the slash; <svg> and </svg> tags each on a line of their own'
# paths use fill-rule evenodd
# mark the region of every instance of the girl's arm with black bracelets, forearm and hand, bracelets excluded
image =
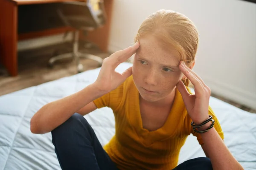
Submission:
<svg viewBox="0 0 256 170">
<path fill-rule="evenodd" d="M 195 94 L 189 94 L 186 86 L 181 80 L 176 86 L 180 91 L 186 110 L 192 121 L 195 125 L 200 125 L 209 118 L 208 108 L 211 94 L 210 88 L 205 85 L 201 77 L 188 68 L 184 62 L 180 62 L 179 68 L 195 86 Z M 208 122 L 203 127 L 200 127 L 199 130 L 204 130 L 204 128 L 207 129 L 210 125 L 211 122 Z M 214 170 L 243 170 L 243 167 L 232 156 L 215 128 L 211 128 L 208 132 L 202 133 L 201 136 L 204 141 L 202 147 L 206 155 L 209 156 Z"/>
</svg>

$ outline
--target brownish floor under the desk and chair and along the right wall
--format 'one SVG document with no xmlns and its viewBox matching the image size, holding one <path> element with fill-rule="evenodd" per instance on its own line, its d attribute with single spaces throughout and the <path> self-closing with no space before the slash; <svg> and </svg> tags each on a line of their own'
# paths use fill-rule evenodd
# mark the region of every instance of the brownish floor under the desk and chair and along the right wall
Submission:
<svg viewBox="0 0 256 170">
<path fill-rule="evenodd" d="M 76 74 L 77 72 L 75 63 L 74 61 L 72 61 L 72 59 L 65 59 L 56 62 L 53 68 L 47 67 L 49 59 L 54 56 L 56 51 L 58 51 L 58 54 L 69 52 L 72 50 L 72 48 L 70 47 L 71 45 L 66 43 L 30 51 L 19 52 L 19 74 L 17 77 L 9 77 L 3 67 L 0 66 L 0 96 L 11 93 L 13 91 L 18 91 L 23 88 L 28 88 L 31 86 L 42 84 L 44 82 L 49 82 L 55 79 Z M 83 49 L 82 51 L 84 52 L 95 54 L 102 58 L 108 57 L 110 55 L 108 53 L 103 53 L 99 51 L 97 48 L 91 48 L 90 50 L 86 50 L 85 48 L 83 48 L 83 44 L 81 45 L 81 49 Z M 98 67 L 97 62 L 88 59 L 81 59 L 81 63 L 84 65 L 84 71 Z M 239 105 L 238 103 L 227 100 L 221 96 L 217 96 L 215 94 L 212 94 L 212 96 L 221 99 L 224 102 L 228 102 L 231 105 L 234 105 L 245 111 L 256 113 L 256 111 L 253 109 L 247 108 L 243 105 Z"/>
</svg>

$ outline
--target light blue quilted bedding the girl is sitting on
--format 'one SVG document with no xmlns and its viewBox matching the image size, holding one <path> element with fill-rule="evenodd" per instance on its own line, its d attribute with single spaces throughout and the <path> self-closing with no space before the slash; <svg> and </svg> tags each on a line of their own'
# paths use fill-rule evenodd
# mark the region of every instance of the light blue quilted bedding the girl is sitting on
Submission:
<svg viewBox="0 0 256 170">
<path fill-rule="evenodd" d="M 116 71 L 130 67 L 122 63 Z M 45 104 L 68 96 L 93 83 L 100 68 L 85 71 L 34 87 L 0 96 L 0 170 L 60 170 L 51 133 L 30 132 L 30 119 Z M 248 113 L 214 97 L 210 106 L 224 131 L 224 142 L 246 170 L 256 170 L 256 114 Z M 102 145 L 115 133 L 110 108 L 96 109 L 84 116 Z M 195 136 L 181 148 L 179 164 L 205 156 Z"/>
</svg>

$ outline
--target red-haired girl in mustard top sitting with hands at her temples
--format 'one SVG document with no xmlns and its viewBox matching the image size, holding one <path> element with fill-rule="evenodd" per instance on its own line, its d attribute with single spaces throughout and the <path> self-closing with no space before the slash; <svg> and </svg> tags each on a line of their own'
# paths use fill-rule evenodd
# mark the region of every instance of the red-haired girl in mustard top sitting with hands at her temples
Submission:
<svg viewBox="0 0 256 170">
<path fill-rule="evenodd" d="M 221 126 L 209 107 L 209 87 L 192 71 L 198 48 L 192 21 L 183 14 L 159 10 L 143 21 L 134 42 L 104 59 L 93 84 L 45 105 L 31 119 L 32 133 L 52 132 L 61 168 L 243 169 L 223 142 Z M 133 66 L 122 74 L 115 72 L 133 54 Z M 113 110 L 116 134 L 103 149 L 83 116 L 105 106 Z M 180 148 L 190 133 L 207 157 L 177 166 Z"/>
</svg>

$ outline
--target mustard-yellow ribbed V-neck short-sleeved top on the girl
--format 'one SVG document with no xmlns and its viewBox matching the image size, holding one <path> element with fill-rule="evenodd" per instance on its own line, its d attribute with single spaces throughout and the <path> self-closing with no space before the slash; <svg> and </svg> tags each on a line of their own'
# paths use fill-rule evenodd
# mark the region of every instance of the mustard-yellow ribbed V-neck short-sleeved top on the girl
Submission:
<svg viewBox="0 0 256 170">
<path fill-rule="evenodd" d="M 97 108 L 112 108 L 115 116 L 116 134 L 104 149 L 119 170 L 171 170 L 177 166 L 180 148 L 187 136 L 193 133 L 199 144 L 203 144 L 201 135 L 193 132 L 192 120 L 177 89 L 165 124 L 155 131 L 143 128 L 139 96 L 131 76 L 115 90 L 93 101 Z M 209 114 L 215 119 L 214 127 L 224 139 L 210 107 Z"/>
</svg>

